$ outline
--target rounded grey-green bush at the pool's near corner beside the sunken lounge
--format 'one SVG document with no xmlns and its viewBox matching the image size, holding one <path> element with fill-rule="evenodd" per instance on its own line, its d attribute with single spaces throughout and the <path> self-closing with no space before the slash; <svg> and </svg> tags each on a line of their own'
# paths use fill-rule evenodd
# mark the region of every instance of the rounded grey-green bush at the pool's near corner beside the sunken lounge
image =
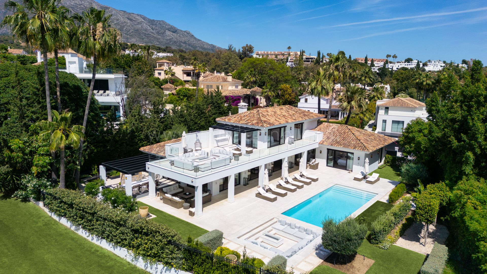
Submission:
<svg viewBox="0 0 487 274">
<path fill-rule="evenodd" d="M 367 234 L 367 225 L 352 217 L 339 222 L 333 218 L 323 221 L 321 240 L 323 247 L 339 254 L 339 260 L 348 262 L 355 254 Z"/>
</svg>

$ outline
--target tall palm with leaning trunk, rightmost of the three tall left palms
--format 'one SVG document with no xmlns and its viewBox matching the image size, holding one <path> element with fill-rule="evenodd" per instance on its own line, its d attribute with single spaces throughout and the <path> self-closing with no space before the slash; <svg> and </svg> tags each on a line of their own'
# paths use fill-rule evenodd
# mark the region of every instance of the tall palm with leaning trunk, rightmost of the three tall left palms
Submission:
<svg viewBox="0 0 487 274">
<path fill-rule="evenodd" d="M 113 28 L 110 19 L 112 15 L 105 15 L 105 10 L 98 10 L 91 7 L 82 14 L 75 14 L 75 33 L 77 36 L 73 39 L 78 51 L 86 56 L 93 57 L 93 74 L 90 84 L 90 92 L 86 100 L 85 115 L 83 118 L 82 133 L 85 133 L 86 123 L 88 121 L 88 111 L 90 109 L 91 98 L 93 95 L 94 81 L 96 78 L 96 65 L 117 55 L 121 51 L 119 39 L 120 31 Z M 79 184 L 79 169 L 81 168 L 81 157 L 83 148 L 83 137 L 81 137 L 78 153 L 78 168 L 76 169 L 75 180 Z"/>
</svg>

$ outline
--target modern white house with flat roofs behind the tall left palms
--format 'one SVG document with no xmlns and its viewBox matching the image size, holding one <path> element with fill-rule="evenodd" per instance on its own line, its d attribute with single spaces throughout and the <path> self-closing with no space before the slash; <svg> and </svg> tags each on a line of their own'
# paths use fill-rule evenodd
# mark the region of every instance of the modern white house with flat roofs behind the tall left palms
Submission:
<svg viewBox="0 0 487 274">
<path fill-rule="evenodd" d="M 92 80 L 93 69 L 87 67 L 87 63 L 92 63 L 91 59 L 87 59 L 81 54 L 76 53 L 72 49 L 59 50 L 59 56 L 64 56 L 66 65 L 59 64 L 59 71 L 65 71 L 74 74 L 81 79 L 87 86 L 90 86 Z M 47 58 L 54 58 L 54 53 L 48 53 Z M 37 51 L 37 62 L 43 61 L 40 51 Z M 117 117 L 123 115 L 123 102 L 127 99 L 125 92 L 125 78 L 127 78 L 122 69 L 103 68 L 97 69 L 96 78 L 94 82 L 93 94 L 102 105 L 100 111 L 108 113 L 113 109 Z"/>
</svg>

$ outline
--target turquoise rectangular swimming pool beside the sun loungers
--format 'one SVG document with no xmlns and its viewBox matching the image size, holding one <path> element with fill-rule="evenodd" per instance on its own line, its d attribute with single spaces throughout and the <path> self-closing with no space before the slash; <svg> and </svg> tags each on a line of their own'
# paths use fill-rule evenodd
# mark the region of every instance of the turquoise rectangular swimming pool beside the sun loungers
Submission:
<svg viewBox="0 0 487 274">
<path fill-rule="evenodd" d="M 351 187 L 334 185 L 283 212 L 282 215 L 321 227 L 321 221 L 326 216 L 343 220 L 376 195 Z"/>
</svg>

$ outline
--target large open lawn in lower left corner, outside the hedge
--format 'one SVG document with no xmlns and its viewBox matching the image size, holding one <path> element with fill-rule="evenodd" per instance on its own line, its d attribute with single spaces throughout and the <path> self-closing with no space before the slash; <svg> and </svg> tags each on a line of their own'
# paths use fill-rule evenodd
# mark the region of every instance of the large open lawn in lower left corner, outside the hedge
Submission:
<svg viewBox="0 0 487 274">
<path fill-rule="evenodd" d="M 0 200 L 0 273 L 147 274 L 60 224 L 33 203 Z"/>
</svg>

